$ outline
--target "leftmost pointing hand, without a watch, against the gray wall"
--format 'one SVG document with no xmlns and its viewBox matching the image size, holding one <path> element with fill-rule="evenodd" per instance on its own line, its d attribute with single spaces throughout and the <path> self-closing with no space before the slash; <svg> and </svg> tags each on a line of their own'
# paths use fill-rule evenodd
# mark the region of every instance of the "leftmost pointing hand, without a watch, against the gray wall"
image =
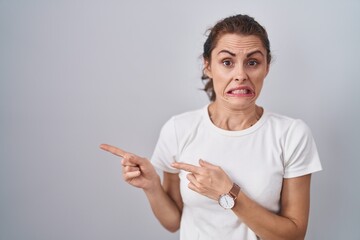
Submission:
<svg viewBox="0 0 360 240">
<path fill-rule="evenodd" d="M 146 191 L 155 188 L 156 184 L 160 184 L 160 177 L 148 159 L 108 144 L 101 144 L 100 148 L 122 158 L 123 178 L 130 185 Z"/>
</svg>

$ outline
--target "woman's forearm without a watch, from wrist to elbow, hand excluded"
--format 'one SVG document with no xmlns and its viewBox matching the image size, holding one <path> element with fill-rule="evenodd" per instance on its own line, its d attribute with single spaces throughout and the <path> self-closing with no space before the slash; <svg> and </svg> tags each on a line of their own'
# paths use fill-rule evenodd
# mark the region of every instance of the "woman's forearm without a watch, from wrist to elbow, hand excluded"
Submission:
<svg viewBox="0 0 360 240">
<path fill-rule="evenodd" d="M 161 186 L 160 179 L 152 190 L 144 190 L 151 209 L 159 222 L 170 232 L 180 227 L 181 210 Z"/>
</svg>

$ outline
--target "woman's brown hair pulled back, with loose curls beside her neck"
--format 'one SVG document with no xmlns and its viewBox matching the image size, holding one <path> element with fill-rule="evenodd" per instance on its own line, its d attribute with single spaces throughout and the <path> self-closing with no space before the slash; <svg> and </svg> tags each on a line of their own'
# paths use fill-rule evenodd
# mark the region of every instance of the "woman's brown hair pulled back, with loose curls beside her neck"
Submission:
<svg viewBox="0 0 360 240">
<path fill-rule="evenodd" d="M 263 26 L 261 26 L 254 18 L 248 15 L 235 15 L 224 18 L 215 24 L 213 28 L 208 29 L 208 37 L 204 43 L 204 53 L 203 58 L 205 61 L 210 63 L 211 52 L 216 47 L 219 39 L 227 33 L 236 33 L 240 35 L 254 35 L 260 38 L 264 48 L 267 52 L 267 63 L 271 62 L 271 52 L 270 52 L 270 42 L 267 35 L 267 32 Z M 204 91 L 210 98 L 210 101 L 214 101 L 216 98 L 213 80 L 205 74 L 205 69 L 203 70 L 203 75 L 201 79 L 204 81 L 205 87 Z"/>
</svg>

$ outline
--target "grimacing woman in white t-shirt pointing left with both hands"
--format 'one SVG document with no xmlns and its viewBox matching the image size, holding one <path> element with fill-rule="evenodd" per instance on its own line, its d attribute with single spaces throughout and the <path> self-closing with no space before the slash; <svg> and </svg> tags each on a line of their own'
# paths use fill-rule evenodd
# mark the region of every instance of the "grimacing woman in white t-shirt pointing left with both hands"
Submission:
<svg viewBox="0 0 360 240">
<path fill-rule="evenodd" d="M 203 58 L 211 103 L 172 117 L 151 162 L 101 148 L 123 158 L 125 181 L 180 239 L 304 239 L 321 164 L 304 122 L 256 105 L 271 62 L 265 29 L 247 15 L 225 18 Z"/>
</svg>

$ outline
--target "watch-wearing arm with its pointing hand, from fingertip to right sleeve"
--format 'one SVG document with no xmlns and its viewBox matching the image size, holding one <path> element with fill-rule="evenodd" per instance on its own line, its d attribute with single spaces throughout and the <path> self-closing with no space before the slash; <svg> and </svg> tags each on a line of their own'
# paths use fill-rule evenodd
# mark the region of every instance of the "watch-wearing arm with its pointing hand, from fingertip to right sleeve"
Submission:
<svg viewBox="0 0 360 240">
<path fill-rule="evenodd" d="M 203 160 L 199 164 L 174 163 L 173 167 L 190 172 L 187 175 L 190 189 L 217 201 L 221 194 L 229 192 L 233 183 L 219 166 Z M 232 210 L 262 239 L 304 239 L 310 205 L 310 176 L 284 179 L 279 214 L 268 211 L 242 191 Z"/>
</svg>

